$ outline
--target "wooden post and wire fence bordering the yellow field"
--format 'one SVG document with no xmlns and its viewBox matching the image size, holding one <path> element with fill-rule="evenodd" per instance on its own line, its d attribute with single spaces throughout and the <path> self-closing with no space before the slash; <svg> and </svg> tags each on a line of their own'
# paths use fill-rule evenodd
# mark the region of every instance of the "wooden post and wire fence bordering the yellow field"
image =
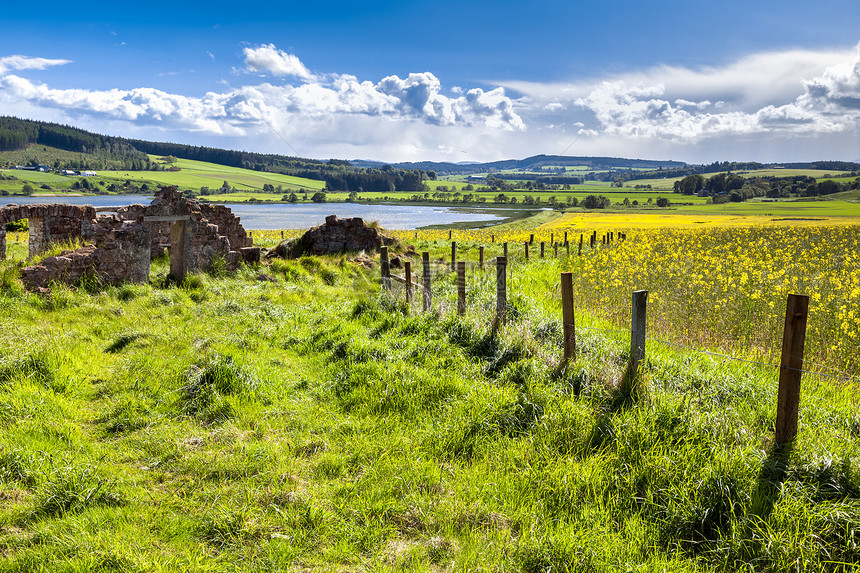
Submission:
<svg viewBox="0 0 860 573">
<path fill-rule="evenodd" d="M 451 235 L 449 234 L 450 237 Z M 496 328 L 504 324 L 512 313 L 520 311 L 515 305 L 511 305 L 508 302 L 507 273 L 508 265 L 511 261 L 515 260 L 519 263 L 525 263 L 533 258 L 543 259 L 550 254 L 550 251 L 552 252 L 551 256 L 557 258 L 559 250 L 561 250 L 563 255 L 581 256 L 583 254 L 583 246 L 587 247 L 586 253 L 588 253 L 602 247 L 611 246 L 614 242 L 625 239 L 625 233 L 616 234 L 615 232 L 608 232 L 598 239 L 597 232 L 594 231 L 588 238 L 587 245 L 585 245 L 584 233 L 580 234 L 578 243 L 569 242 L 567 233 L 565 233 L 564 242 L 557 242 L 552 237 L 549 248 L 547 248 L 546 242 L 535 244 L 534 235 L 531 235 L 529 241 L 521 243 L 522 250 L 516 254 L 511 252 L 508 243 L 503 243 L 500 245 L 502 254 L 491 259 L 486 259 L 485 248 L 480 246 L 478 261 L 458 260 L 458 245 L 456 241 L 452 241 L 449 261 L 445 261 L 442 258 L 431 261 L 429 252 L 425 251 L 422 253 L 420 270 L 412 268 L 411 261 L 401 262 L 398 265 L 399 268 L 403 269 L 403 275 L 391 273 L 388 249 L 383 247 L 380 254 L 382 292 L 384 296 L 389 297 L 393 301 L 405 300 L 406 310 L 409 313 L 434 312 L 444 315 L 456 312 L 463 315 L 467 309 L 467 292 L 469 292 L 466 288 L 467 271 L 474 285 L 471 292 L 475 293 L 491 290 L 489 287 L 491 287 L 493 273 L 490 271 L 495 270 L 496 301 L 492 307 L 492 325 Z M 511 254 L 514 256 L 511 257 Z M 647 335 L 647 291 L 633 292 L 630 313 L 631 327 L 629 329 L 598 327 L 594 325 L 580 325 L 577 327 L 574 320 L 572 273 L 562 272 L 560 281 L 556 285 L 558 285 L 558 290 L 552 287 L 549 290 L 551 292 L 558 292 L 562 299 L 562 364 L 576 359 L 576 333 L 577 331 L 584 331 L 601 332 L 619 338 L 630 336 L 631 346 L 627 372 L 631 373 L 630 384 L 634 387 L 641 384 L 647 343 L 705 356 L 720 361 L 720 363 L 733 361 L 778 373 L 777 416 L 774 433 L 776 444 L 790 443 L 797 435 L 800 380 L 802 376 L 815 376 L 841 384 L 860 385 L 860 377 L 858 376 L 841 371 L 833 366 L 815 364 L 805 359 L 804 346 L 809 307 L 809 297 L 806 295 L 788 295 L 782 348 L 779 363 L 777 364 L 773 360 L 775 358 L 773 354 L 768 354 L 763 359 L 747 358 L 725 352 L 714 352 L 694 346 L 685 341 L 674 339 L 673 337 Z M 491 308 L 487 300 L 481 301 L 472 297 L 472 300 L 469 302 L 473 306 L 477 303 L 479 310 L 484 312 Z"/>
</svg>

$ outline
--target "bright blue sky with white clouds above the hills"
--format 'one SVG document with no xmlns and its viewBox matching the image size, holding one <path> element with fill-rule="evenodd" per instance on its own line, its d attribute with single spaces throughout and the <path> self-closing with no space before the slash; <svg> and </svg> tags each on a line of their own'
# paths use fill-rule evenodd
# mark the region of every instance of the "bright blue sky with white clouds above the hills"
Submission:
<svg viewBox="0 0 860 573">
<path fill-rule="evenodd" d="M 860 161 L 860 4 L 15 3 L 0 113 L 317 158 Z"/>
</svg>

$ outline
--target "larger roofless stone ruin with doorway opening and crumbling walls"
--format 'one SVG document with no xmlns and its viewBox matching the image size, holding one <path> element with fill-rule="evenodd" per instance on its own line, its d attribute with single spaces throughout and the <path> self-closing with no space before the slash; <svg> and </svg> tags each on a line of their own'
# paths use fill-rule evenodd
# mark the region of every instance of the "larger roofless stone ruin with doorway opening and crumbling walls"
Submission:
<svg viewBox="0 0 860 573">
<path fill-rule="evenodd" d="M 150 261 L 168 250 L 170 276 L 206 271 L 223 261 L 234 270 L 242 261 L 260 259 L 260 248 L 239 218 L 224 205 L 185 199 L 176 187 L 165 187 L 149 205 L 93 207 L 91 205 L 8 205 L 0 207 L 0 258 L 6 257 L 5 224 L 27 219 L 30 257 L 52 243 L 80 240 L 86 246 L 48 257 L 21 269 L 29 289 L 51 281 L 77 283 L 93 277 L 103 284 L 146 282 Z"/>
</svg>

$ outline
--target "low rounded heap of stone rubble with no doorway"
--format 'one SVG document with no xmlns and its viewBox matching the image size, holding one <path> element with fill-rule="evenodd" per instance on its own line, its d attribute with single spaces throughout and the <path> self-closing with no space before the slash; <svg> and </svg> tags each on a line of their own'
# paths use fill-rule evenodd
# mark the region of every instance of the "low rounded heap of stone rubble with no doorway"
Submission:
<svg viewBox="0 0 860 573">
<path fill-rule="evenodd" d="M 379 227 L 365 225 L 361 217 L 338 219 L 337 215 L 325 218 L 325 224 L 311 227 L 298 239 L 283 241 L 268 256 L 298 257 L 326 255 L 349 251 L 374 251 L 397 241 L 385 235 Z"/>
</svg>

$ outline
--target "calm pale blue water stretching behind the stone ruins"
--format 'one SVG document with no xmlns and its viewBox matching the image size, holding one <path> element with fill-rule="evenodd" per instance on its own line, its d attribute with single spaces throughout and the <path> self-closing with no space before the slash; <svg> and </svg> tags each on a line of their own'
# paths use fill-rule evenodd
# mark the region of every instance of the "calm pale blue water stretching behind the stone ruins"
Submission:
<svg viewBox="0 0 860 573">
<path fill-rule="evenodd" d="M 120 207 L 134 203 L 149 204 L 151 196 L 111 195 L 94 197 L 6 197 L 6 203 L 67 203 L 95 207 Z M 0 199 L 0 202 L 3 200 Z M 477 221 L 501 221 L 505 209 L 430 207 L 424 205 L 364 205 L 360 203 L 300 204 L 228 204 L 246 229 L 307 229 L 325 222 L 328 215 L 340 218 L 361 217 L 365 222 L 378 221 L 388 229 L 417 229 L 427 225 L 446 225 Z"/>
</svg>

